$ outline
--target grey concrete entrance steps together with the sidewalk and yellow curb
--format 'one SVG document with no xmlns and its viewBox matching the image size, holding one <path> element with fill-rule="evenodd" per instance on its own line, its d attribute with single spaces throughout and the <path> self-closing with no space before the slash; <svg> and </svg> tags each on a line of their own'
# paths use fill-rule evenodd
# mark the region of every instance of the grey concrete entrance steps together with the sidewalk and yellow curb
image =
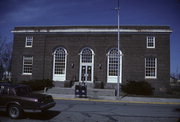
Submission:
<svg viewBox="0 0 180 122">
<path fill-rule="evenodd" d="M 79 96 L 75 96 L 74 88 L 53 87 L 51 89 L 48 89 L 47 91 L 44 91 L 44 94 L 52 95 L 54 99 L 59 100 L 180 105 L 180 99 L 178 98 L 153 98 L 129 96 L 120 96 L 119 98 L 117 98 L 116 96 L 114 96 L 115 91 L 113 89 L 88 88 L 87 98 L 79 98 Z"/>
</svg>

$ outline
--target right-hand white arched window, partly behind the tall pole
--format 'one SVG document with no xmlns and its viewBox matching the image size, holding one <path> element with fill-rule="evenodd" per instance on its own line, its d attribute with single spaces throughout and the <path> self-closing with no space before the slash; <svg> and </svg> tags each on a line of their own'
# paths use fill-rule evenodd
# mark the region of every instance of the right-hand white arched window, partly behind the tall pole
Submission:
<svg viewBox="0 0 180 122">
<path fill-rule="evenodd" d="M 108 64 L 107 64 L 107 82 L 109 83 L 117 83 L 118 76 L 118 59 L 119 59 L 119 75 L 120 75 L 120 83 L 121 83 L 121 74 L 122 74 L 122 56 L 118 55 L 118 49 L 112 48 L 108 52 Z"/>
</svg>

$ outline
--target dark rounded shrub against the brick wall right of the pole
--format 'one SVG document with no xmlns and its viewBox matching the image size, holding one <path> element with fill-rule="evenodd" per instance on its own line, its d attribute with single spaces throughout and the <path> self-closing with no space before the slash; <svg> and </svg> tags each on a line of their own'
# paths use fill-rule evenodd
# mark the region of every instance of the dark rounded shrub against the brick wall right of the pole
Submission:
<svg viewBox="0 0 180 122">
<path fill-rule="evenodd" d="M 121 86 L 123 92 L 127 94 L 135 94 L 135 95 L 152 95 L 153 88 L 151 84 L 145 81 L 130 81 Z"/>
</svg>

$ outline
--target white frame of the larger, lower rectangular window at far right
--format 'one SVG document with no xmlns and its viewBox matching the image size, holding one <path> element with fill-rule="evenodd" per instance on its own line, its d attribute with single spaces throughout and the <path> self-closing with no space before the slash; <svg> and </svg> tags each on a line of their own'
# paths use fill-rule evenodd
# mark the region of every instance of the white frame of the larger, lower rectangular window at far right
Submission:
<svg viewBox="0 0 180 122">
<path fill-rule="evenodd" d="M 147 67 L 146 66 L 147 58 L 154 58 L 155 59 L 155 61 L 154 61 L 155 62 L 155 67 Z M 155 57 L 147 57 L 147 58 L 145 58 L 145 79 L 157 79 L 157 58 L 155 58 Z M 155 75 L 154 76 L 147 76 L 146 68 L 154 68 L 155 69 Z"/>
</svg>

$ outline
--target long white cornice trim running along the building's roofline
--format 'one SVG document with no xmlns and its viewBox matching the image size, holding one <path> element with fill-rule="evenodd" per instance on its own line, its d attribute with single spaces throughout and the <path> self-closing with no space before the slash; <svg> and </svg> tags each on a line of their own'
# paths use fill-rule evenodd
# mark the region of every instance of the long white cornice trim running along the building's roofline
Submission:
<svg viewBox="0 0 180 122">
<path fill-rule="evenodd" d="M 93 29 L 93 28 L 77 28 L 77 29 L 22 29 L 22 30 L 13 30 L 12 33 L 72 33 L 72 32 L 85 32 L 85 33 L 96 33 L 96 32 L 118 32 L 118 29 Z M 127 33 L 139 33 L 139 32 L 160 32 L 160 33 L 171 33 L 170 29 L 120 29 L 120 32 Z"/>
</svg>

